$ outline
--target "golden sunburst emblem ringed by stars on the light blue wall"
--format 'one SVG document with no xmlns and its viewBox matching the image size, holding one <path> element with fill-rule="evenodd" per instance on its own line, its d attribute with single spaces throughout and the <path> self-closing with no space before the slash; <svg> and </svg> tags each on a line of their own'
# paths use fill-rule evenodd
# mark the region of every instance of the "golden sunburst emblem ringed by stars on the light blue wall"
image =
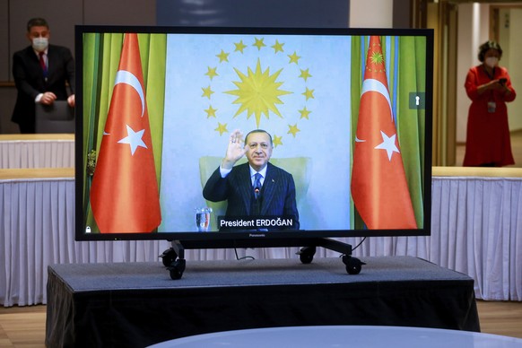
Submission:
<svg viewBox="0 0 522 348">
<path fill-rule="evenodd" d="M 306 122 L 313 117 L 314 110 L 309 101 L 315 99 L 315 90 L 310 88 L 313 79 L 309 66 L 303 66 L 305 59 L 293 48 L 285 52 L 285 45 L 287 43 L 280 39 L 255 37 L 250 42 L 244 38 L 232 42 L 229 49 L 219 48 L 213 58 L 217 57 L 217 61 L 205 66 L 203 73 L 209 84 L 201 88 L 201 97 L 209 101 L 208 108 L 204 109 L 205 118 L 218 121 L 214 131 L 225 134 L 228 132 L 227 122 L 244 115 L 247 119 L 255 118 L 257 128 L 265 121 L 283 121 L 285 125 L 279 124 L 278 129 L 281 131 L 283 126 L 286 128 L 283 132 L 295 138 L 300 132 L 296 120 Z M 247 54 L 250 60 L 245 61 L 243 57 Z M 227 84 L 232 88 L 223 88 Z M 228 98 L 228 106 L 225 106 L 222 95 L 234 99 Z M 290 101 L 289 95 L 295 97 Z M 236 105 L 237 109 L 232 108 L 233 115 L 224 114 L 225 109 L 230 112 Z M 289 111 L 289 106 L 294 110 Z M 274 134 L 273 138 L 274 146 L 283 144 L 283 135 Z"/>
</svg>

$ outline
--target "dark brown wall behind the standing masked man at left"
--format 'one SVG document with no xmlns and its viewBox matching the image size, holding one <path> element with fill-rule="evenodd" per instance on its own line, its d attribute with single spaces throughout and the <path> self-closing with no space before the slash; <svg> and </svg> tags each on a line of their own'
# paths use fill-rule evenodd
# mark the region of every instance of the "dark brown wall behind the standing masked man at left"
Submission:
<svg viewBox="0 0 522 348">
<path fill-rule="evenodd" d="M 50 42 L 71 48 L 77 24 L 155 25 L 156 1 L 140 0 L 0 0 L 0 134 L 18 133 L 11 122 L 16 90 L 13 84 L 13 53 L 27 47 L 27 22 L 45 18 Z"/>
</svg>

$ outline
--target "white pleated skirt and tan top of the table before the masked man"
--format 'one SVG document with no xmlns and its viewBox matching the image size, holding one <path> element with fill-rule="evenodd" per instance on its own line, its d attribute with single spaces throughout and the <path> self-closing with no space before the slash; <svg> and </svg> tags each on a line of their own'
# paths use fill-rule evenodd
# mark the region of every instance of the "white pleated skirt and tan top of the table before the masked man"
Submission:
<svg viewBox="0 0 522 348">
<path fill-rule="evenodd" d="M 0 169 L 74 167 L 74 135 L 0 135 Z"/>
</svg>

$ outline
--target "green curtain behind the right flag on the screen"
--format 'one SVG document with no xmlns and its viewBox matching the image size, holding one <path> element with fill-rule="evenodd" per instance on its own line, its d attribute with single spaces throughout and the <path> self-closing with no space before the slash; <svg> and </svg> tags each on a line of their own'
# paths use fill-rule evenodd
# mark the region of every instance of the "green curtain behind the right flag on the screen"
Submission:
<svg viewBox="0 0 522 348">
<path fill-rule="evenodd" d="M 361 101 L 361 85 L 368 52 L 369 37 L 352 38 L 352 144 Z M 426 41 L 420 37 L 381 37 L 386 61 L 387 83 L 396 119 L 398 142 L 405 165 L 406 180 L 412 198 L 415 219 L 419 226 L 424 221 L 424 150 L 426 114 L 422 108 L 410 107 L 411 92 L 425 91 Z M 355 213 L 353 213 L 355 212 Z M 352 207 L 353 225 L 364 228 L 359 214 Z"/>
</svg>

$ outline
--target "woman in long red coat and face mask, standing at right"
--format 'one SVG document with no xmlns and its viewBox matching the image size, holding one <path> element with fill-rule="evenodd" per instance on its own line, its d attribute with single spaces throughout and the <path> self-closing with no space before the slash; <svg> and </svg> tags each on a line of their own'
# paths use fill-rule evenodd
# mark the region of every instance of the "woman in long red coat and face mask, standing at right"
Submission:
<svg viewBox="0 0 522 348">
<path fill-rule="evenodd" d="M 479 48 L 482 62 L 469 69 L 465 92 L 472 100 L 467 117 L 464 166 L 501 167 L 515 164 L 509 138 L 507 101 L 517 93 L 508 70 L 499 66 L 500 45 L 487 41 Z"/>
</svg>

